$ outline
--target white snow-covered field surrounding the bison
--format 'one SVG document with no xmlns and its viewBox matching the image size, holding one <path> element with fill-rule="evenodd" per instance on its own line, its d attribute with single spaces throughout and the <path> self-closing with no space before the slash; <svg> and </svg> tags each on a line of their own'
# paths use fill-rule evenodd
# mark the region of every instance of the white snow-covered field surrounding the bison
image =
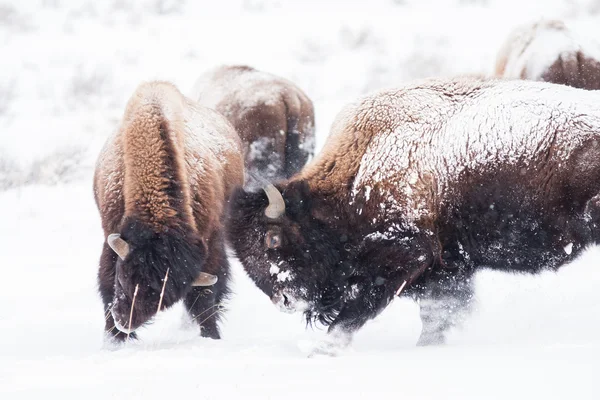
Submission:
<svg viewBox="0 0 600 400">
<path fill-rule="evenodd" d="M 317 147 L 340 107 L 431 75 L 489 73 L 516 24 L 600 38 L 600 1 L 0 1 L 1 399 L 598 399 L 600 249 L 558 273 L 483 272 L 478 308 L 443 347 L 417 348 L 417 305 L 395 302 L 336 357 L 324 331 L 279 313 L 234 262 L 223 340 L 182 308 L 103 348 L 102 242 L 91 176 L 142 80 L 186 92 L 221 63 L 297 82 Z"/>
</svg>

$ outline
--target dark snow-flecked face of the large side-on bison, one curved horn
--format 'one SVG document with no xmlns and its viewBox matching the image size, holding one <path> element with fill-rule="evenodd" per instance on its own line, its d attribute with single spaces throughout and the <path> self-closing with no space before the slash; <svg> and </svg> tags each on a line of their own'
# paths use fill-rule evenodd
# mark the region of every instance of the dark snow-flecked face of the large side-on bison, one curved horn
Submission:
<svg viewBox="0 0 600 400">
<path fill-rule="evenodd" d="M 312 206 L 303 181 L 281 192 L 273 185 L 238 189 L 231 198 L 232 246 L 254 283 L 285 312 L 322 308 L 341 265 L 339 236 L 313 216 Z"/>
</svg>

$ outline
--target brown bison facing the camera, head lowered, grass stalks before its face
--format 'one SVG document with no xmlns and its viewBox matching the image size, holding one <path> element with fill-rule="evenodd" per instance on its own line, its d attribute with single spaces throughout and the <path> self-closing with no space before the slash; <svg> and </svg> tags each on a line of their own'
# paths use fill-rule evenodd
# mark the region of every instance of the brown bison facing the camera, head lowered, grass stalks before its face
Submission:
<svg viewBox="0 0 600 400">
<path fill-rule="evenodd" d="M 241 184 L 241 143 L 229 122 L 169 83 L 137 88 L 94 176 L 107 334 L 122 341 L 183 299 L 201 335 L 219 337 L 229 273 L 222 215 Z"/>
</svg>

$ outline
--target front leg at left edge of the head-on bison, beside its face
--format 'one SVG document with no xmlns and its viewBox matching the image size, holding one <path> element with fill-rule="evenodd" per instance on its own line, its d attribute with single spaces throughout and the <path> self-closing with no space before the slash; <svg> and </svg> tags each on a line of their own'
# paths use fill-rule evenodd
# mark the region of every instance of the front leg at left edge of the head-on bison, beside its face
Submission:
<svg viewBox="0 0 600 400">
<path fill-rule="evenodd" d="M 98 287 L 100 297 L 104 303 L 104 333 L 106 339 L 117 343 L 124 342 L 127 334 L 117 329 L 111 310 L 112 302 L 115 296 L 115 264 L 117 254 L 105 242 L 100 256 L 100 270 L 98 271 Z M 135 332 L 130 333 L 129 337 L 136 338 Z"/>
</svg>

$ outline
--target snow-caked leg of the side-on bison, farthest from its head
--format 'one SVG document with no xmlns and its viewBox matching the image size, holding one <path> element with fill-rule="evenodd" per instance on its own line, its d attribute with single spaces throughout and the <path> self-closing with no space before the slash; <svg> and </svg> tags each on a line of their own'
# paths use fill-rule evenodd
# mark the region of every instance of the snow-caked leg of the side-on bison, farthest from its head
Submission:
<svg viewBox="0 0 600 400">
<path fill-rule="evenodd" d="M 468 314 L 473 287 L 471 277 L 452 275 L 427 285 L 420 296 L 423 329 L 417 346 L 445 343 L 445 333 Z"/>
</svg>

